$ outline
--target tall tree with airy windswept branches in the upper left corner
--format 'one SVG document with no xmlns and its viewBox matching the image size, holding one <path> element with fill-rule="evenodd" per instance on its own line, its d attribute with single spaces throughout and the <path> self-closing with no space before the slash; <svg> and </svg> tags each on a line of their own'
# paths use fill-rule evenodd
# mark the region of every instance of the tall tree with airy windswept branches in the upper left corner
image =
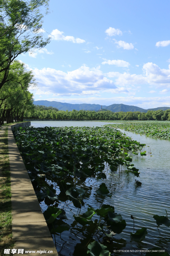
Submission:
<svg viewBox="0 0 170 256">
<path fill-rule="evenodd" d="M 49 0 L 0 0 L 0 89 L 15 80 L 10 66 L 22 53 L 41 49 L 50 38 L 42 33 L 43 13 Z"/>
</svg>

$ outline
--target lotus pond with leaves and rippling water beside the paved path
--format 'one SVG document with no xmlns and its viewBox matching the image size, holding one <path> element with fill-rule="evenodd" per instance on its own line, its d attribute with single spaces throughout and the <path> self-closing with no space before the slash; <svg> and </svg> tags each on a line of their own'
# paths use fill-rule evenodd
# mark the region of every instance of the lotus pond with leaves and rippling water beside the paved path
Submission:
<svg viewBox="0 0 170 256">
<path fill-rule="evenodd" d="M 170 176 L 151 157 L 155 139 L 141 136 L 145 145 L 107 126 L 27 127 L 14 135 L 59 255 L 169 249 Z"/>
</svg>

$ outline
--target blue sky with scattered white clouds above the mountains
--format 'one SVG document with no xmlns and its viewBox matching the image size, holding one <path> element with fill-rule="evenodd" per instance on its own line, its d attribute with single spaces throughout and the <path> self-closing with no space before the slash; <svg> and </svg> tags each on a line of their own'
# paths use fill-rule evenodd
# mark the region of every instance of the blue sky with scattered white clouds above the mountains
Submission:
<svg viewBox="0 0 170 256">
<path fill-rule="evenodd" d="M 166 0 L 50 0 L 50 43 L 19 56 L 38 82 L 35 100 L 170 106 L 169 8 Z"/>
</svg>

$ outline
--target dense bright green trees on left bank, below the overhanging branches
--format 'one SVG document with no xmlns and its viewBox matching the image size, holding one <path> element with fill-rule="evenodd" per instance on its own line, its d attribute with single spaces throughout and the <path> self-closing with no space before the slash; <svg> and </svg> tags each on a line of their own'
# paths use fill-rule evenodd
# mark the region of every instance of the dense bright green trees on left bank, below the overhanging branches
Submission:
<svg viewBox="0 0 170 256">
<path fill-rule="evenodd" d="M 10 74 L 0 90 L 0 124 L 23 120 L 24 111 L 33 107 L 33 94 L 29 86 L 36 86 L 32 71 L 27 71 L 24 63 L 14 61 L 10 65 Z M 10 75 L 12 74 L 12 78 Z M 2 73 L 0 73 L 0 80 Z"/>
</svg>

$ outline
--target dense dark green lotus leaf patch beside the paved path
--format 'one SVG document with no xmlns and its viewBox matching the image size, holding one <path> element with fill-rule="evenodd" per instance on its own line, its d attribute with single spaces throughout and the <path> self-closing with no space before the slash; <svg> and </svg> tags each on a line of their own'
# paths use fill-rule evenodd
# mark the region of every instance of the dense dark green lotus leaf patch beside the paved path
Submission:
<svg viewBox="0 0 170 256">
<path fill-rule="evenodd" d="M 14 136 L 38 200 L 44 201 L 48 206 L 44 217 L 51 234 L 69 230 L 77 223 L 83 226 L 80 232 L 90 227 L 92 239 L 93 234 L 97 233 L 101 237 L 112 239 L 113 234 L 122 232 L 126 222 L 120 214 L 114 213 L 114 206 L 102 205 L 101 202 L 100 207 L 96 209 L 88 205 L 88 209 L 82 214 L 80 211 L 78 214 L 76 208 L 84 209 L 84 201 L 89 197 L 89 191 L 86 191 L 84 184 L 91 177 L 96 177 L 97 181 L 99 177 L 107 177 L 106 164 L 108 169 L 109 166 L 114 166 L 115 172 L 120 171 L 120 165 L 124 164 L 125 168 L 131 165 L 135 168 L 131 164 L 132 158 L 127 161 L 129 159 L 122 157 L 126 153 L 122 147 L 126 145 L 125 151 L 137 151 L 138 147 L 142 148 L 140 143 L 107 126 L 25 127 L 16 129 Z M 129 158 L 129 154 L 126 156 Z M 108 196 L 112 195 L 109 194 L 106 184 L 101 183 L 94 193 L 95 200 L 104 200 Z M 66 223 L 64 209 L 58 208 L 60 201 L 65 202 L 64 205 L 67 202 L 73 211 L 76 209 L 76 212 L 73 212 L 71 227 Z M 109 252 L 104 250 L 104 253 Z"/>
</svg>

